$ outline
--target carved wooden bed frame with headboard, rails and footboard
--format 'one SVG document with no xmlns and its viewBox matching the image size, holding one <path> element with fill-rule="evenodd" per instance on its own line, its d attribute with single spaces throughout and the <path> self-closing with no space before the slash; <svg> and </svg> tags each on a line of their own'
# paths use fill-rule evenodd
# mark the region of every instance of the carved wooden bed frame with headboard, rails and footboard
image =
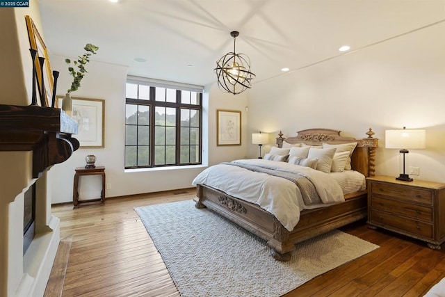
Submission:
<svg viewBox="0 0 445 297">
<path fill-rule="evenodd" d="M 371 128 L 366 134 L 367 138 L 355 139 L 340 136 L 338 130 L 307 129 L 298 131 L 298 136 L 283 138 L 280 131 L 277 145 L 282 147 L 284 139 L 287 143 L 307 145 L 357 142 L 357 147 L 351 156 L 351 166 L 366 177 L 371 177 L 375 173 L 375 148 L 378 147 L 378 138 L 373 138 L 374 132 Z M 296 243 L 366 218 L 366 191 L 350 193 L 345 195 L 345 199 L 345 202 L 330 207 L 301 211 L 300 221 L 292 232 L 286 230 L 275 216 L 261 209 L 257 204 L 234 198 L 223 191 L 203 184 L 197 185 L 195 207 L 207 207 L 216 211 L 266 240 L 271 255 L 275 259 L 289 261 Z"/>
</svg>

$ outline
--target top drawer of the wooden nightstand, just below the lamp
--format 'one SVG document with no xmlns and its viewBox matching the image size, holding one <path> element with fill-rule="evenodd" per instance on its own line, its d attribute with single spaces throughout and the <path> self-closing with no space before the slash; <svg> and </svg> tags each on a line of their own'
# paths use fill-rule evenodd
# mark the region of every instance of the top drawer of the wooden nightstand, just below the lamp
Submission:
<svg viewBox="0 0 445 297">
<path fill-rule="evenodd" d="M 407 202 L 421 202 L 432 205 L 431 191 L 413 186 L 398 184 L 382 184 L 375 182 L 371 184 L 371 193 L 396 198 Z"/>
</svg>

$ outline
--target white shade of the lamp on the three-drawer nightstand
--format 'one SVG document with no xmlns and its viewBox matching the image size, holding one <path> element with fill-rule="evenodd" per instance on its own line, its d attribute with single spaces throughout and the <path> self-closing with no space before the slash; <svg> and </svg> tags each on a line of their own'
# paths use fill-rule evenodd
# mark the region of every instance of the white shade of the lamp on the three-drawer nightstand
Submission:
<svg viewBox="0 0 445 297">
<path fill-rule="evenodd" d="M 424 129 L 399 129 L 385 131 L 385 147 L 395 149 L 424 149 Z"/>
</svg>

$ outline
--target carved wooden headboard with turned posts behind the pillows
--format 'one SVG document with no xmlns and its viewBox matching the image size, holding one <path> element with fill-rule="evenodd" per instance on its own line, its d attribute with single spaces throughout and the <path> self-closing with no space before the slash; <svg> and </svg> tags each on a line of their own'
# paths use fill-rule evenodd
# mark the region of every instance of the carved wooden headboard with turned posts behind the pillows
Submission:
<svg viewBox="0 0 445 297">
<path fill-rule="evenodd" d="M 378 138 L 373 138 L 374 132 L 371 128 L 366 132 L 368 137 L 355 139 L 353 137 L 343 137 L 339 130 L 333 129 L 306 129 L 298 131 L 297 136 L 283 138 L 280 131 L 277 137 L 278 147 L 282 147 L 284 139 L 286 143 L 305 143 L 306 145 L 322 145 L 322 143 L 339 144 L 355 143 L 357 147 L 351 156 L 351 167 L 366 177 L 375 175 L 375 148 L 378 147 Z"/>
</svg>

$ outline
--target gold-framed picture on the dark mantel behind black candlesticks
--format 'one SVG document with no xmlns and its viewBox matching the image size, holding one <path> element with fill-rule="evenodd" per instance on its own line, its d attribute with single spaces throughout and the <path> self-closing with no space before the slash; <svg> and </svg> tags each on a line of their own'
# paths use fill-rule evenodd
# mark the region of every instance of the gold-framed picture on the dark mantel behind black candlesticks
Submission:
<svg viewBox="0 0 445 297">
<path fill-rule="evenodd" d="M 44 97 L 40 98 L 44 102 L 44 104 L 40 105 L 46 105 L 51 106 L 51 102 L 49 100 L 52 99 L 53 95 L 53 88 L 54 88 L 54 79 L 53 74 L 51 71 L 51 64 L 49 63 L 49 56 L 48 56 L 48 50 L 47 46 L 43 42 L 42 35 L 40 35 L 39 31 L 37 30 L 37 27 L 35 26 L 33 19 L 29 15 L 25 15 L 25 21 L 26 21 L 26 28 L 28 29 L 28 37 L 29 37 L 29 45 L 31 49 L 35 49 L 37 51 L 37 55 L 35 56 L 35 72 L 36 72 L 36 81 L 37 81 L 37 87 L 38 87 L 38 101 L 39 101 L 39 94 L 42 91 L 42 88 L 44 88 Z M 44 65 L 43 67 L 40 67 L 39 57 L 44 58 Z M 31 54 L 30 54 L 31 58 Z M 54 107 L 57 107 L 57 102 L 54 102 Z M 39 104 L 38 104 L 39 105 Z"/>
</svg>

